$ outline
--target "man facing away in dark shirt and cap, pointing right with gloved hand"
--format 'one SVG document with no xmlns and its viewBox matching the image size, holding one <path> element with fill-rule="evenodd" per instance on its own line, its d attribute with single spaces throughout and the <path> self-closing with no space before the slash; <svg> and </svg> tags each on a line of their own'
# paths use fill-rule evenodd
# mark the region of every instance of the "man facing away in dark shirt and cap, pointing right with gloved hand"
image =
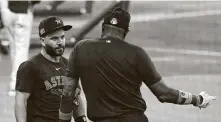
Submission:
<svg viewBox="0 0 221 122">
<path fill-rule="evenodd" d="M 87 100 L 88 118 L 94 122 L 148 122 L 140 92 L 142 82 L 162 103 L 206 108 L 216 99 L 206 92 L 193 95 L 168 87 L 148 54 L 124 41 L 129 23 L 130 14 L 116 8 L 104 18 L 101 39 L 85 39 L 76 44 L 68 62 L 60 122 L 71 118 L 69 106 L 79 78 Z"/>
</svg>

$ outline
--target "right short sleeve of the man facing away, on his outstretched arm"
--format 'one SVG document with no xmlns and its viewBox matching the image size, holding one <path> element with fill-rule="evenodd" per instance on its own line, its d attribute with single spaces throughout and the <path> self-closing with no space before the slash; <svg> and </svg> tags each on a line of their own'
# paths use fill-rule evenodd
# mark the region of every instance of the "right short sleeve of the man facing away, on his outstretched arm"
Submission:
<svg viewBox="0 0 221 122">
<path fill-rule="evenodd" d="M 138 47 L 137 50 L 136 66 L 141 80 L 147 86 L 155 84 L 162 79 L 160 74 L 156 71 L 156 68 L 148 54 L 140 47 Z"/>
</svg>

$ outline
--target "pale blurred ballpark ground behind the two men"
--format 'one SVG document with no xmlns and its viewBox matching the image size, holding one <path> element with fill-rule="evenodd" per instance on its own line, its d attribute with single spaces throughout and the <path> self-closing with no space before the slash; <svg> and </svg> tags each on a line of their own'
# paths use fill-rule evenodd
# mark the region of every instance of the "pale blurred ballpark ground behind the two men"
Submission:
<svg viewBox="0 0 221 122">
<path fill-rule="evenodd" d="M 49 15 L 57 15 L 73 25 L 67 33 L 67 45 L 78 33 L 113 1 L 95 1 L 91 12 L 85 13 L 85 1 L 66 1 L 50 13 L 49 2 L 35 6 L 30 56 L 39 53 L 38 24 Z M 44 4 L 47 3 L 47 4 Z M 207 109 L 193 106 L 162 104 L 146 86 L 142 86 L 150 122 L 221 122 L 221 2 L 131 1 L 130 32 L 127 42 L 143 47 L 157 70 L 172 87 L 198 94 L 201 90 L 218 97 Z M 84 14 L 82 14 L 83 12 Z M 101 24 L 85 38 L 100 37 Z M 66 49 L 68 57 L 72 46 Z M 14 97 L 8 94 L 9 56 L 0 60 L 0 122 L 15 122 Z"/>
</svg>

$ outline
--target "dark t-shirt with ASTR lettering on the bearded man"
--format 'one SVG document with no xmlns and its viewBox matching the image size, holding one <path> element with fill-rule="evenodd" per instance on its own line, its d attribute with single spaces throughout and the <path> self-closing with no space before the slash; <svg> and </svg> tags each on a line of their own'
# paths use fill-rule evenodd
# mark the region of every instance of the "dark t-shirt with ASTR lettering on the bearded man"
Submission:
<svg viewBox="0 0 221 122">
<path fill-rule="evenodd" d="M 30 93 L 27 122 L 58 122 L 67 60 L 59 63 L 38 54 L 22 63 L 17 72 L 16 90 Z"/>
</svg>

